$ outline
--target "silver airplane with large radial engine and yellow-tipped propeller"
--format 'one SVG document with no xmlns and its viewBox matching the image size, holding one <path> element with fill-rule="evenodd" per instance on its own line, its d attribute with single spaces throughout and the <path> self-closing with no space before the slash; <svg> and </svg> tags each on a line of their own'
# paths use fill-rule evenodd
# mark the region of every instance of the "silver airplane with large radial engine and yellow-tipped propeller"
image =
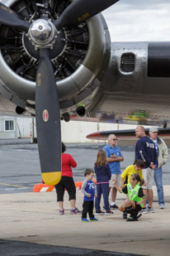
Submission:
<svg viewBox="0 0 170 256">
<path fill-rule="evenodd" d="M 1 0 L 0 112 L 36 119 L 42 179 L 61 176 L 60 120 L 166 127 L 170 42 L 112 42 L 119 0 Z"/>
</svg>

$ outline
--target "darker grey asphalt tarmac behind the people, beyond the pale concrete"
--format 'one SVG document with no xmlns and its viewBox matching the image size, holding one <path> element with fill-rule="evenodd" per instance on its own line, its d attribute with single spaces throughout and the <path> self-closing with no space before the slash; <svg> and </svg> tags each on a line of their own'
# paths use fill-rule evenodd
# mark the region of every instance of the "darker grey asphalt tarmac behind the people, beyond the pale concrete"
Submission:
<svg viewBox="0 0 170 256">
<path fill-rule="evenodd" d="M 92 168 L 97 151 L 105 143 L 66 143 L 67 151 L 78 166 L 73 168 L 74 181 L 83 181 L 83 172 Z M 125 161 L 120 163 L 121 171 L 134 162 L 135 146 L 120 146 Z M 169 147 L 170 152 L 170 147 Z M 30 139 L 0 140 L 0 194 L 31 192 L 35 184 L 41 182 L 40 162 L 37 144 Z M 170 158 L 163 167 L 163 185 L 170 185 Z"/>
</svg>

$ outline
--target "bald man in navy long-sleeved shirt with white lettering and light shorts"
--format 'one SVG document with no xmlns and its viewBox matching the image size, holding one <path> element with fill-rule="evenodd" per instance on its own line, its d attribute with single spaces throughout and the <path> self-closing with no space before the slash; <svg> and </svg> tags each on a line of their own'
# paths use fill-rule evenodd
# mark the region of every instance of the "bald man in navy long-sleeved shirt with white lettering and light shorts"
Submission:
<svg viewBox="0 0 170 256">
<path fill-rule="evenodd" d="M 144 161 L 143 176 L 146 186 L 143 186 L 144 196 L 149 200 L 149 207 L 146 208 L 146 200 L 144 201 L 143 213 L 154 212 L 153 210 L 153 169 L 156 167 L 157 152 L 154 142 L 146 136 L 143 126 L 135 128 L 135 135 L 139 138 L 135 146 L 135 160 L 142 159 Z"/>
</svg>

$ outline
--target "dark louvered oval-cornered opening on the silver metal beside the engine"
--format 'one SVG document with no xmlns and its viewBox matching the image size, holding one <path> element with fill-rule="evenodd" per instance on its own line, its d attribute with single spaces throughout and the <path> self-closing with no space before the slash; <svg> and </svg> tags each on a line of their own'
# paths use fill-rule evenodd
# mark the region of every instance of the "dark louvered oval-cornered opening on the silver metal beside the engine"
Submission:
<svg viewBox="0 0 170 256">
<path fill-rule="evenodd" d="M 126 73 L 135 70 L 135 55 L 133 53 L 125 53 L 121 56 L 120 70 Z"/>
</svg>

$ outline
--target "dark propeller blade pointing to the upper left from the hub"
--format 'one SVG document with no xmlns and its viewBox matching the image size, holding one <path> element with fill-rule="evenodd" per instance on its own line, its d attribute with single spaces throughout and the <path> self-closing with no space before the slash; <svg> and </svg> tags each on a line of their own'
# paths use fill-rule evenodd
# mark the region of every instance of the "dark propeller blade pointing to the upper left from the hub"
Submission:
<svg viewBox="0 0 170 256">
<path fill-rule="evenodd" d="M 21 31 L 28 31 L 30 27 L 29 22 L 25 22 L 24 20 L 17 15 L 16 12 L 13 12 L 11 8 L 5 6 L 0 2 L 0 23 L 10 26 L 17 27 L 21 29 Z"/>
</svg>

